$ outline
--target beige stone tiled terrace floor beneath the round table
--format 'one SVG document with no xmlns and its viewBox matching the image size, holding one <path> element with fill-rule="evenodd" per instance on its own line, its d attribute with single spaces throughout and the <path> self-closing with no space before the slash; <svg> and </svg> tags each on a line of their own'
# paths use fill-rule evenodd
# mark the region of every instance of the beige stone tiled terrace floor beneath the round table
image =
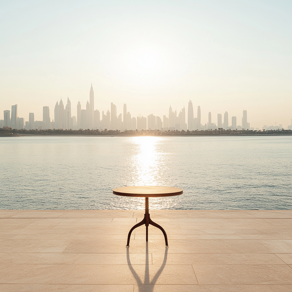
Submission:
<svg viewBox="0 0 292 292">
<path fill-rule="evenodd" d="M 0 210 L 1 291 L 292 291 L 292 211 Z"/>
</svg>

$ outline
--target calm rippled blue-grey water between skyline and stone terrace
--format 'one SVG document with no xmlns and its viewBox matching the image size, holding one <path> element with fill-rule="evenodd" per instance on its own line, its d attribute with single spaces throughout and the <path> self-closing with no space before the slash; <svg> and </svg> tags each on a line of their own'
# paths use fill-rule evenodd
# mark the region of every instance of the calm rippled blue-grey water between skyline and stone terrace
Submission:
<svg viewBox="0 0 292 292">
<path fill-rule="evenodd" d="M 180 187 L 150 209 L 291 209 L 292 137 L 0 138 L 1 209 L 143 209 L 112 189 Z"/>
</svg>

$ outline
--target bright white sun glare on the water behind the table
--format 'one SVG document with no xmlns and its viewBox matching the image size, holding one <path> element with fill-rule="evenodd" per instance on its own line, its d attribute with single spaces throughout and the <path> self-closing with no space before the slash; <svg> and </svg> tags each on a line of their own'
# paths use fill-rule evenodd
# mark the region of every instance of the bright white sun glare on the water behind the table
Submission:
<svg viewBox="0 0 292 292">
<path fill-rule="evenodd" d="M 164 138 L 139 136 L 133 137 L 131 142 L 134 144 L 136 152 L 129 161 L 132 178 L 128 185 L 168 186 L 163 176 L 167 167 L 168 153 L 160 151 Z M 152 210 L 169 208 L 170 201 L 169 197 L 150 198 L 149 207 Z M 145 209 L 145 199 L 127 197 L 127 205 L 130 209 L 143 210 Z"/>
</svg>

